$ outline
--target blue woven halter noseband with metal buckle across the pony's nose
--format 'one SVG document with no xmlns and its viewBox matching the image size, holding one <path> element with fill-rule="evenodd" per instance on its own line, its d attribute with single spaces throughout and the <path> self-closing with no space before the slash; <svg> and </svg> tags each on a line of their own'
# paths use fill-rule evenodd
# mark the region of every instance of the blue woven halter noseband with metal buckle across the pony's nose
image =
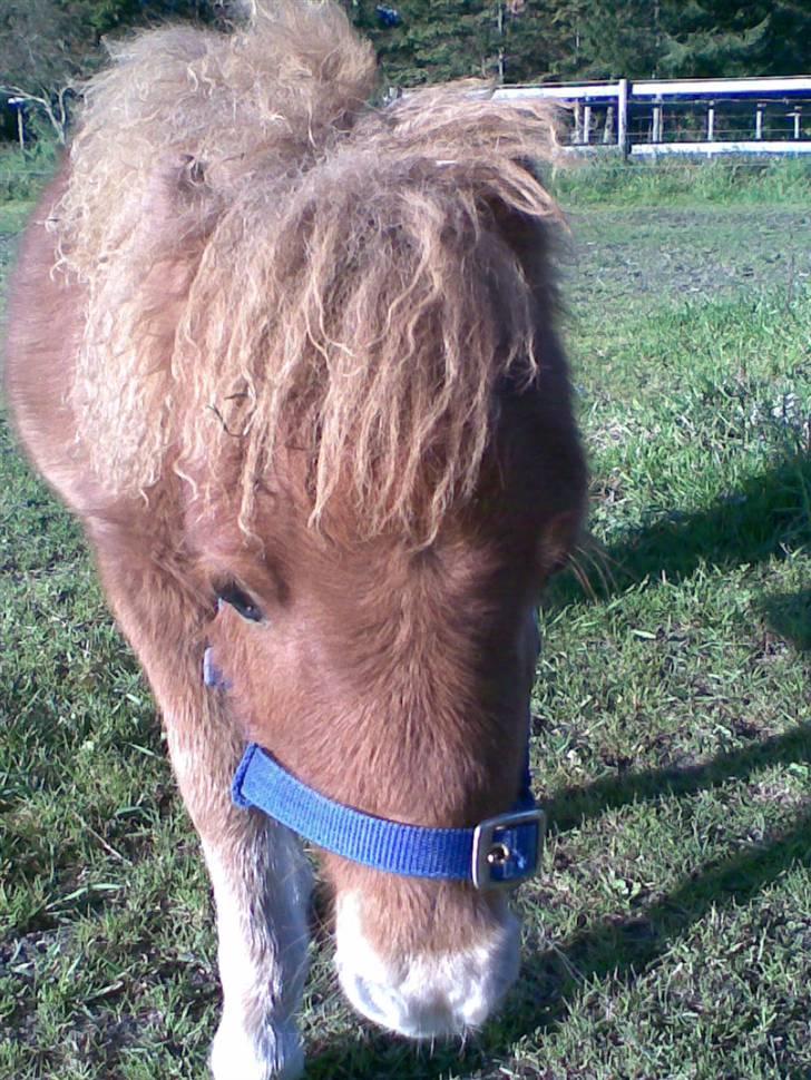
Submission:
<svg viewBox="0 0 811 1080">
<path fill-rule="evenodd" d="M 335 803 L 256 743 L 245 750 L 232 797 L 237 806 L 262 811 L 317 847 L 389 874 L 499 888 L 526 881 L 540 863 L 545 817 L 529 787 L 528 750 L 516 807 L 473 828 L 404 825 Z"/>
</svg>

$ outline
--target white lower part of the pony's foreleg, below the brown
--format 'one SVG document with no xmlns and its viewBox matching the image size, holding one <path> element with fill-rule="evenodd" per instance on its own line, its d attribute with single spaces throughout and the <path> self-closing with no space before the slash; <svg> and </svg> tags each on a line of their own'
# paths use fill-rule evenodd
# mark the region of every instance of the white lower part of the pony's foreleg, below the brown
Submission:
<svg viewBox="0 0 811 1080">
<path fill-rule="evenodd" d="M 232 763 L 223 777 L 217 766 L 195 765 L 196 729 L 167 716 L 166 732 L 217 913 L 223 1015 L 212 1072 L 215 1080 L 293 1080 L 304 1066 L 296 1011 L 306 974 L 309 867 L 283 826 L 222 805 L 237 760 L 232 746 L 222 747 Z"/>
</svg>

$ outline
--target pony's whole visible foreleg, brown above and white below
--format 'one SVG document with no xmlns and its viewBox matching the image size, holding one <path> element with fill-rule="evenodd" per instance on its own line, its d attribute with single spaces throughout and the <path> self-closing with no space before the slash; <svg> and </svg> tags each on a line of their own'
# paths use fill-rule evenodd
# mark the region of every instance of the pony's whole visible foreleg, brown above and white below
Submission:
<svg viewBox="0 0 811 1080">
<path fill-rule="evenodd" d="M 306 862 L 287 829 L 232 805 L 242 745 L 219 694 L 202 685 L 209 615 L 143 554 L 109 558 L 98 548 L 108 598 L 163 710 L 214 887 L 223 1017 L 212 1071 L 215 1080 L 292 1080 L 303 1068 L 295 1013 L 306 971 Z"/>
</svg>

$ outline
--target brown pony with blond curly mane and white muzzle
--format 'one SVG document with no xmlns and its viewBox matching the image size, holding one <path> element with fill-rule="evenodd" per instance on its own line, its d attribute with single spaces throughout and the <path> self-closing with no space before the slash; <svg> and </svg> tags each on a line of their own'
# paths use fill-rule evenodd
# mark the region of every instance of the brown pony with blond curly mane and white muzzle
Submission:
<svg viewBox="0 0 811 1080">
<path fill-rule="evenodd" d="M 114 59 L 22 244 L 8 396 L 201 835 L 214 1074 L 293 1077 L 307 864 L 232 804 L 245 744 L 397 822 L 473 825 L 520 786 L 531 612 L 585 485 L 527 165 L 554 129 L 475 84 L 372 108 L 370 47 L 304 0 Z M 417 1038 L 485 1020 L 518 968 L 504 894 L 323 868 L 362 1012 Z"/>
</svg>

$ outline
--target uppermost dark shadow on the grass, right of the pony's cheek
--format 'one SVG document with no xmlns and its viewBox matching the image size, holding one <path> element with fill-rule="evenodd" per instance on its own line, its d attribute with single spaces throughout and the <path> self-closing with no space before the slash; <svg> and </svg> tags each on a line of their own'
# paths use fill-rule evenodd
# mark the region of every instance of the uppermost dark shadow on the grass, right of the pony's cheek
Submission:
<svg viewBox="0 0 811 1080">
<path fill-rule="evenodd" d="M 751 477 L 706 510 L 674 510 L 629 532 L 605 548 L 602 558 L 598 553 L 594 566 L 583 567 L 585 591 L 574 573 L 561 575 L 551 583 L 545 607 L 559 610 L 584 597 L 599 602 L 645 578 L 681 581 L 703 564 L 755 564 L 803 543 L 811 543 L 811 456 L 797 453 Z M 780 598 L 765 610 L 788 629 L 797 629 L 792 620 L 804 617 L 802 640 L 811 639 L 808 610 L 803 616 L 791 602 L 781 605 Z"/>
</svg>

